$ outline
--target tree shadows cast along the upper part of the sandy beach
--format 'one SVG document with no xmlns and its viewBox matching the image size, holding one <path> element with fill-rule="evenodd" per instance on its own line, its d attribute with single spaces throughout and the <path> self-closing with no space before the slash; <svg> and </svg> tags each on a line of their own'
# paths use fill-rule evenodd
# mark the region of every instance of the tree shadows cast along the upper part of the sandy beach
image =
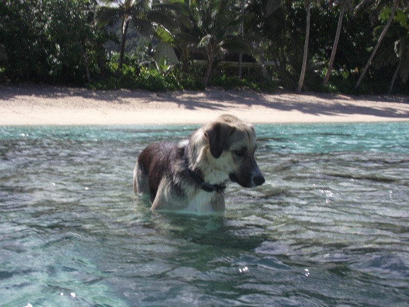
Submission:
<svg viewBox="0 0 409 307">
<path fill-rule="evenodd" d="M 255 93 L 245 90 L 223 91 L 184 91 L 153 93 L 141 90 L 92 91 L 77 87 L 49 85 L 0 85 L 0 101 L 12 101 L 17 96 L 63 99 L 78 97 L 105 101 L 113 106 L 126 105 L 138 101 L 174 103 L 185 109 L 208 109 L 209 111 L 228 111 L 228 107 L 262 106 L 278 111 L 297 110 L 304 114 L 335 116 L 339 114 L 370 115 L 384 118 L 409 119 L 409 97 L 404 95 L 332 95 L 327 93 Z M 367 103 L 359 103 L 366 101 Z"/>
</svg>

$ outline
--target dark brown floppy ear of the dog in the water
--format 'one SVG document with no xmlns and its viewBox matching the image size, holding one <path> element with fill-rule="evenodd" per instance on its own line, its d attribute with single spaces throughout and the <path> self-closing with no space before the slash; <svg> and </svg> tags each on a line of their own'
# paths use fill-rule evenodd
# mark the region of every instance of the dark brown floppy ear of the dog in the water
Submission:
<svg viewBox="0 0 409 307">
<path fill-rule="evenodd" d="M 226 123 L 214 123 L 205 131 L 205 136 L 209 140 L 209 149 L 212 156 L 216 159 L 227 145 L 229 137 L 234 133 L 236 127 L 229 126 Z"/>
</svg>

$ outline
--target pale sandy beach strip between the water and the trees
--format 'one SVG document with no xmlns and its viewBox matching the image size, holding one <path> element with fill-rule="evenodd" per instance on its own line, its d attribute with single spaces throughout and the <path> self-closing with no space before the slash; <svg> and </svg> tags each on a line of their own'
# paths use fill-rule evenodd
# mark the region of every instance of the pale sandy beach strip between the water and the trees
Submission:
<svg viewBox="0 0 409 307">
<path fill-rule="evenodd" d="M 409 97 L 0 85 L 0 125 L 200 124 L 221 114 L 252 123 L 409 121 Z"/>
</svg>

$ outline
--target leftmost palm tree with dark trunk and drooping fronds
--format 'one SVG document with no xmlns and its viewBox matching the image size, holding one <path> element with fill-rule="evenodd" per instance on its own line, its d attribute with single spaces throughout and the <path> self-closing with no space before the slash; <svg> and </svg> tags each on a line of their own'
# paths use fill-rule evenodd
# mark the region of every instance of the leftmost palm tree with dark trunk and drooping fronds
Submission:
<svg viewBox="0 0 409 307">
<path fill-rule="evenodd" d="M 98 9 L 97 20 L 109 26 L 121 21 L 122 38 L 118 65 L 120 70 L 124 60 L 126 34 L 130 21 L 141 31 L 150 30 L 154 24 L 165 26 L 172 24 L 169 15 L 161 12 L 161 4 L 152 4 L 152 0 L 102 0 L 102 2 L 107 6 Z"/>
</svg>

